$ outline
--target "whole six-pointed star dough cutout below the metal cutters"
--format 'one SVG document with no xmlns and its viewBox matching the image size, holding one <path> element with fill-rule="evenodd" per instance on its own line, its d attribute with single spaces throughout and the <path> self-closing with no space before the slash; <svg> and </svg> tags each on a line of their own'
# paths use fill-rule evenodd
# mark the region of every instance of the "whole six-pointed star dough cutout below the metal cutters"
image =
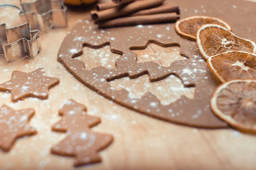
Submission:
<svg viewBox="0 0 256 170">
<path fill-rule="evenodd" d="M 36 97 L 47 99 L 49 89 L 60 82 L 58 78 L 47 77 L 44 68 L 38 68 L 31 73 L 13 71 L 12 79 L 0 85 L 0 91 L 11 92 L 12 102 Z"/>
</svg>

